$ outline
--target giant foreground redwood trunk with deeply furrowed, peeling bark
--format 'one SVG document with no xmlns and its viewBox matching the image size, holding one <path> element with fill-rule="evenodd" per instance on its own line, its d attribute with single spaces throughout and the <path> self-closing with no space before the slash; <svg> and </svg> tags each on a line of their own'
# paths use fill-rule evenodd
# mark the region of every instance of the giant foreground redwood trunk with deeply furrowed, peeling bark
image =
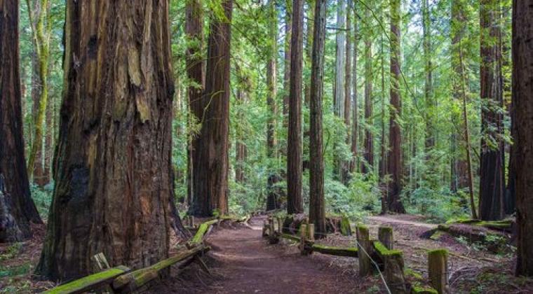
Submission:
<svg viewBox="0 0 533 294">
<path fill-rule="evenodd" d="M 100 252 L 112 265 L 151 265 L 168 256 L 171 226 L 182 229 L 171 219 L 168 2 L 66 9 L 55 191 L 36 269 L 53 280 L 89 274 Z"/>
</svg>

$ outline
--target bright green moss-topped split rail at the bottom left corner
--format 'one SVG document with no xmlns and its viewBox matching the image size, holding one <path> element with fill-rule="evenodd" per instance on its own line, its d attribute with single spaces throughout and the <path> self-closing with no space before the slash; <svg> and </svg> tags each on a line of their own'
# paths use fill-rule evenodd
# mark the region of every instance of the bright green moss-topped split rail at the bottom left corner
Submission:
<svg viewBox="0 0 533 294">
<path fill-rule="evenodd" d="M 84 278 L 62 284 L 50 290 L 46 290 L 45 294 L 77 294 L 86 293 L 89 290 L 95 290 L 102 286 L 112 283 L 112 281 L 123 274 L 130 272 L 128 267 L 119 266 L 112 269 L 104 270 L 96 274 L 91 274 Z"/>
</svg>

